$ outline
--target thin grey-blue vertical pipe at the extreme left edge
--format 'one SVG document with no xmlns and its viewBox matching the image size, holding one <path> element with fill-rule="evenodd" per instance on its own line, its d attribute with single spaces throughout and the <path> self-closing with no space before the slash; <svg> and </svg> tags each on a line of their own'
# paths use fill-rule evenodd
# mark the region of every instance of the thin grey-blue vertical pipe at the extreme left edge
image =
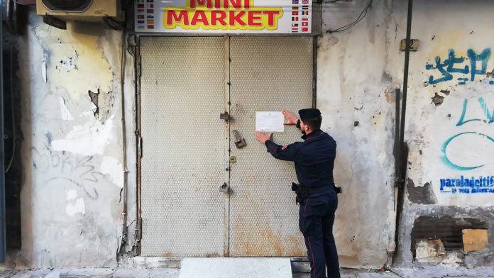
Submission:
<svg viewBox="0 0 494 278">
<path fill-rule="evenodd" d="M 3 24 L 4 5 L 0 5 L 0 24 Z M 4 33 L 0 28 L 0 134 L 4 135 Z M 0 140 L 0 262 L 5 262 L 5 152 Z"/>
</svg>

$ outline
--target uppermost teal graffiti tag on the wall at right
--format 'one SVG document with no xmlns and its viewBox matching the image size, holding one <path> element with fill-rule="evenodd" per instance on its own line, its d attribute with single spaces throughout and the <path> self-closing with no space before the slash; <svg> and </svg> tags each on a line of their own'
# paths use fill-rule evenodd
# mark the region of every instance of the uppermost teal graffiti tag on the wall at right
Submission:
<svg viewBox="0 0 494 278">
<path fill-rule="evenodd" d="M 437 56 L 433 63 L 427 63 L 425 69 L 430 72 L 428 84 L 438 84 L 455 79 L 459 85 L 465 85 L 468 82 L 473 82 L 476 79 L 481 79 L 487 75 L 487 63 L 490 58 L 490 48 L 485 48 L 481 52 L 468 49 L 466 57 L 458 57 L 454 50 L 449 50 L 446 58 L 441 59 Z M 467 61 L 468 60 L 468 61 Z M 481 77 L 478 77 L 481 75 Z M 488 74 L 490 77 L 494 76 Z M 489 84 L 494 84 L 494 79 L 489 81 Z"/>
</svg>

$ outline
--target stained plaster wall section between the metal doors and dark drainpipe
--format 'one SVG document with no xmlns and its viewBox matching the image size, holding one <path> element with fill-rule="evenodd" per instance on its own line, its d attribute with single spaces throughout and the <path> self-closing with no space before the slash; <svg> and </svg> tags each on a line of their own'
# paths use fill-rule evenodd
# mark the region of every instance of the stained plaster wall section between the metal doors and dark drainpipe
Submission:
<svg viewBox="0 0 494 278">
<path fill-rule="evenodd" d="M 355 3 L 356 2 L 356 3 Z M 355 20 L 368 1 L 325 3 L 324 35 L 317 57 L 317 107 L 322 128 L 338 144 L 335 182 L 339 195 L 334 234 L 341 265 L 378 269 L 394 250 L 393 137 L 395 92 L 402 60 L 391 1 L 374 1 L 358 25 L 326 33 Z"/>
</svg>

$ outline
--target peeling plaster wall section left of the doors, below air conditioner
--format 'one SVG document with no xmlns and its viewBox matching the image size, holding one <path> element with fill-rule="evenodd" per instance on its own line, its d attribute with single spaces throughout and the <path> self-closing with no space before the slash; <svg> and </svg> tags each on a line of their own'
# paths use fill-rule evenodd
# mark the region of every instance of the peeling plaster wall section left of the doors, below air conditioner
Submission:
<svg viewBox="0 0 494 278">
<path fill-rule="evenodd" d="M 21 256 L 31 267 L 114 266 L 124 185 L 121 33 L 93 23 L 59 30 L 31 10 L 19 48 Z"/>
</svg>

